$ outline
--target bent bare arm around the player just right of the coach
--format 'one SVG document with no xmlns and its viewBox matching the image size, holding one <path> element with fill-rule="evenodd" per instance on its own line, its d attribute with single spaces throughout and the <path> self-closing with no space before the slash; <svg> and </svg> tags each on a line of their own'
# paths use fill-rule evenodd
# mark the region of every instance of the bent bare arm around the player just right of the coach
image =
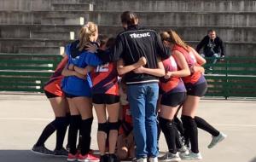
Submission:
<svg viewBox="0 0 256 162">
<path fill-rule="evenodd" d="M 187 61 L 185 60 L 182 53 L 178 52 L 177 50 L 173 51 L 172 53 L 175 61 L 177 62 L 177 66 L 181 68 L 176 72 L 166 72 L 165 78 L 170 77 L 186 77 L 190 75 L 189 66 Z"/>
</svg>

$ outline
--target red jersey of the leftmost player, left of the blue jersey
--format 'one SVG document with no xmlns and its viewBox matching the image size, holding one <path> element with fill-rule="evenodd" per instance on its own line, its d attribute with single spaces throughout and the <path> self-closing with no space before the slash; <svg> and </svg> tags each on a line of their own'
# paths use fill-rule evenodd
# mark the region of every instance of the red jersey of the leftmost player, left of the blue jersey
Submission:
<svg viewBox="0 0 256 162">
<path fill-rule="evenodd" d="M 44 90 L 54 95 L 58 95 L 58 96 L 64 95 L 63 91 L 61 90 L 61 80 L 62 78 L 64 78 L 64 76 L 61 75 L 61 72 L 66 66 L 67 61 L 68 61 L 68 56 L 66 55 L 56 67 L 55 72 L 49 78 L 49 81 L 46 84 L 44 84 Z"/>
</svg>

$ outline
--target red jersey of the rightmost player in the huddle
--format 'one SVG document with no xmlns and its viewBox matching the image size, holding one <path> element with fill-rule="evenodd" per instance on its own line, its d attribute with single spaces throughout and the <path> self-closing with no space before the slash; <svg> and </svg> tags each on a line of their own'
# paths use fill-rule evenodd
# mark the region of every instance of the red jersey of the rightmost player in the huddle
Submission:
<svg viewBox="0 0 256 162">
<path fill-rule="evenodd" d="M 193 54 L 193 52 L 188 51 L 187 49 L 184 49 L 183 47 L 175 44 L 172 48 L 172 51 L 177 50 L 180 53 L 182 53 L 189 65 L 189 67 L 191 66 L 199 66 L 195 60 L 195 55 Z M 199 79 L 201 78 L 201 72 L 194 72 L 191 73 L 188 77 L 183 77 L 183 82 L 184 84 L 196 84 Z"/>
</svg>

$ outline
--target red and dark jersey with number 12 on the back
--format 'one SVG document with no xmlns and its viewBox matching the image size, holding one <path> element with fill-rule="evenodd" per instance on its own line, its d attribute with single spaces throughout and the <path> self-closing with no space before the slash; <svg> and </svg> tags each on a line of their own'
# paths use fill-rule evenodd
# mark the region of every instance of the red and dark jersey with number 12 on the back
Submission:
<svg viewBox="0 0 256 162">
<path fill-rule="evenodd" d="M 107 63 L 96 67 L 91 72 L 91 78 L 93 94 L 119 95 L 116 64 Z"/>
</svg>

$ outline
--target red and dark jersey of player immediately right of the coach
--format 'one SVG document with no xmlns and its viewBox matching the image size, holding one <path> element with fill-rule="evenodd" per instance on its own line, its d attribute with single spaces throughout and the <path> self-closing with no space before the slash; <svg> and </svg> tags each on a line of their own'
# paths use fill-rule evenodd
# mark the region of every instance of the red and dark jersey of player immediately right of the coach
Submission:
<svg viewBox="0 0 256 162">
<path fill-rule="evenodd" d="M 177 66 L 177 61 L 174 55 L 171 55 L 168 59 L 162 61 L 166 72 L 176 72 L 179 68 Z M 179 77 L 171 78 L 160 78 L 160 90 L 164 93 L 177 93 L 185 92 L 185 86 L 183 81 Z"/>
</svg>

